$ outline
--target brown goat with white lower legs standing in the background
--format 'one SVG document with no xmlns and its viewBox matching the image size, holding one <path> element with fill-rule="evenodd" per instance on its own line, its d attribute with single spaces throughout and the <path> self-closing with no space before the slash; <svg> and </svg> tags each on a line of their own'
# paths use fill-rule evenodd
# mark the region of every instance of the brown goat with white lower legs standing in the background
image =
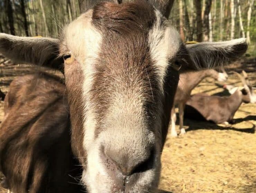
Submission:
<svg viewBox="0 0 256 193">
<path fill-rule="evenodd" d="M 184 120 L 184 108 L 186 102 L 190 99 L 192 90 L 198 85 L 204 78 L 211 77 L 218 81 L 226 81 L 228 75 L 224 68 L 222 73 L 217 72 L 216 70 L 202 70 L 199 72 L 186 72 L 180 74 L 180 80 L 174 97 L 174 105 L 171 110 L 171 136 L 176 137 L 177 132 L 175 129 L 176 122 L 176 113 L 175 105 L 179 107 L 179 118 L 180 118 L 180 134 L 185 134 L 185 129 L 183 128 Z"/>
</svg>

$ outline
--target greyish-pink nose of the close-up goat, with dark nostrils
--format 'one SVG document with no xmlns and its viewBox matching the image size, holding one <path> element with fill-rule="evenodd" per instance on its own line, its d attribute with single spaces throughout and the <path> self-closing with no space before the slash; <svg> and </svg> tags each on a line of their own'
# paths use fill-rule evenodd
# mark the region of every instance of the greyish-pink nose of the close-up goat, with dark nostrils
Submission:
<svg viewBox="0 0 256 193">
<path fill-rule="evenodd" d="M 101 161 L 110 177 L 120 185 L 128 183 L 131 176 L 139 175 L 153 168 L 154 150 L 149 149 L 138 154 L 130 154 L 126 151 L 113 151 L 101 148 Z M 135 182 L 134 180 L 129 180 Z"/>
</svg>

